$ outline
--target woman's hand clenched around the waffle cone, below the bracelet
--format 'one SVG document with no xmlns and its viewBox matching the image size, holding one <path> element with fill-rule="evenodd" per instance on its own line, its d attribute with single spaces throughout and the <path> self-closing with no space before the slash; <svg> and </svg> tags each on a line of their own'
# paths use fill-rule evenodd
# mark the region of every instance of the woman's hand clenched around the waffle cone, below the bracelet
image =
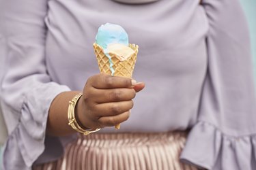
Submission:
<svg viewBox="0 0 256 170">
<path fill-rule="evenodd" d="M 132 99 L 144 86 L 118 76 L 98 74 L 90 77 L 76 105 L 79 124 L 86 129 L 96 129 L 126 121 L 133 107 Z"/>
</svg>

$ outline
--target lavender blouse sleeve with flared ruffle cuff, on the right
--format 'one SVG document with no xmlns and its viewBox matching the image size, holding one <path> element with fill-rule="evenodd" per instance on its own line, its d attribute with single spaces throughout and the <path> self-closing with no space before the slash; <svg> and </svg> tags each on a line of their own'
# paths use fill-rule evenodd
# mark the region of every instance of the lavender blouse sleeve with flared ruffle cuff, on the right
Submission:
<svg viewBox="0 0 256 170">
<path fill-rule="evenodd" d="M 246 19 L 238 0 L 204 0 L 208 71 L 199 118 L 181 159 L 214 170 L 256 169 L 256 99 Z"/>
</svg>

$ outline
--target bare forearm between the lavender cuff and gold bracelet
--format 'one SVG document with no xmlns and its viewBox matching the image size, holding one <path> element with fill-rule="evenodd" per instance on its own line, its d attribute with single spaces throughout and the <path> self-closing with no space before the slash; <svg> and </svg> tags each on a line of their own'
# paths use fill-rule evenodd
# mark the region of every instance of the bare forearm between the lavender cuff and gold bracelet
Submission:
<svg viewBox="0 0 256 170">
<path fill-rule="evenodd" d="M 48 113 L 47 135 L 63 136 L 76 133 L 68 125 L 68 104 L 77 94 L 79 94 L 79 91 L 61 92 L 55 97 Z"/>
</svg>

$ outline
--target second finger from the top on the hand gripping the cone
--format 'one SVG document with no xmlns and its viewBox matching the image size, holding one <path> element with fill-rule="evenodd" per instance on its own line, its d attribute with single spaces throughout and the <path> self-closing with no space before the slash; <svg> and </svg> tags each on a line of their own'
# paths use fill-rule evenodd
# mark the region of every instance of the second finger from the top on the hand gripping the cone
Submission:
<svg viewBox="0 0 256 170">
<path fill-rule="evenodd" d="M 92 89 L 87 97 L 94 103 L 109 103 L 115 101 L 130 101 L 136 92 L 133 88 Z"/>
</svg>

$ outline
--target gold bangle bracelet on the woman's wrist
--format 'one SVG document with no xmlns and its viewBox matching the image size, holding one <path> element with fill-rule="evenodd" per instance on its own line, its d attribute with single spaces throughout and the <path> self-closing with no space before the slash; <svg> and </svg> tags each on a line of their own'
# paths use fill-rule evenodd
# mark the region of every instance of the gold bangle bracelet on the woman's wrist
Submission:
<svg viewBox="0 0 256 170">
<path fill-rule="evenodd" d="M 82 93 L 79 93 L 78 95 L 75 95 L 72 101 L 69 102 L 68 105 L 68 125 L 72 127 L 75 131 L 78 131 L 79 133 L 83 133 L 83 135 L 89 135 L 90 133 L 94 133 L 97 131 L 100 131 L 100 129 L 83 129 L 76 121 L 76 117 L 74 115 L 74 108 L 76 107 L 76 102 L 79 100 L 79 98 L 82 96 Z"/>
</svg>

